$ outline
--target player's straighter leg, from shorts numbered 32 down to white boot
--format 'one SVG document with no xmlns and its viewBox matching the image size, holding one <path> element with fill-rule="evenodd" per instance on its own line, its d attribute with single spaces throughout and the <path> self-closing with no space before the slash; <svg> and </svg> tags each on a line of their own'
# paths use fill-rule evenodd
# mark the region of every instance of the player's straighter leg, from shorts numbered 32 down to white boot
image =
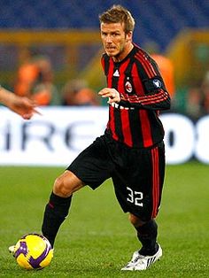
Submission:
<svg viewBox="0 0 209 278">
<path fill-rule="evenodd" d="M 159 211 L 165 174 L 164 144 L 151 150 L 135 151 L 128 159 L 131 161 L 128 176 L 120 171 L 120 178 L 113 181 L 121 207 L 124 212 L 130 212 L 129 220 L 136 229 L 142 248 L 134 253 L 133 259 L 122 270 L 143 270 L 162 255 L 154 219 Z"/>
</svg>

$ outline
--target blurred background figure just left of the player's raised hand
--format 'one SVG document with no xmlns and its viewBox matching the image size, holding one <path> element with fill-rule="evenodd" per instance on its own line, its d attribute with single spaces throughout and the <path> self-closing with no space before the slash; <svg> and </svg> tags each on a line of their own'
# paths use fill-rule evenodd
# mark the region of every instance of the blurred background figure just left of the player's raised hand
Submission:
<svg viewBox="0 0 209 278">
<path fill-rule="evenodd" d="M 62 104 L 75 106 L 97 106 L 100 100 L 96 91 L 90 89 L 87 81 L 74 79 L 66 82 L 62 90 Z"/>
</svg>

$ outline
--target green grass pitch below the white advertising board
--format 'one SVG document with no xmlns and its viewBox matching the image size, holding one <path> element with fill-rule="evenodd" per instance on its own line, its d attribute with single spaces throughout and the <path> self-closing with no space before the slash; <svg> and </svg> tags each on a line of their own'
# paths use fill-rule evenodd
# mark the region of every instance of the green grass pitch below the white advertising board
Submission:
<svg viewBox="0 0 209 278">
<path fill-rule="evenodd" d="M 167 166 L 159 212 L 164 256 L 145 272 L 120 272 L 139 248 L 135 230 L 106 181 L 74 195 L 70 216 L 55 244 L 54 259 L 41 271 L 21 269 L 8 253 L 19 236 L 39 232 L 51 185 L 63 168 L 0 168 L 1 277 L 209 277 L 209 166 Z"/>
</svg>

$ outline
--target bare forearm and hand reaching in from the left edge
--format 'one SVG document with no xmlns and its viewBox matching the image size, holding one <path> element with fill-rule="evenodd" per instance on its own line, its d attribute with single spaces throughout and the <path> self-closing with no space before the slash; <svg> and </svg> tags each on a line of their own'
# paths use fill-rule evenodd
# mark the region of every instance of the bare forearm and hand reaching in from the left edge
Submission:
<svg viewBox="0 0 209 278">
<path fill-rule="evenodd" d="M 0 86 L 0 103 L 16 112 L 23 119 L 29 120 L 35 112 L 35 104 L 27 97 L 18 97 L 11 91 Z"/>
</svg>

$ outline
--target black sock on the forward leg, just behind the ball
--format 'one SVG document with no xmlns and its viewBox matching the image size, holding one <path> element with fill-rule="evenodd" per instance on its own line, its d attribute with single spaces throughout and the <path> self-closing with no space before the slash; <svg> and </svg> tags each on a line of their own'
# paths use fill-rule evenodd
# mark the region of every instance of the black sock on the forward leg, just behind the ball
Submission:
<svg viewBox="0 0 209 278">
<path fill-rule="evenodd" d="M 55 237 L 58 234 L 58 229 L 66 219 L 71 205 L 70 197 L 58 197 L 53 192 L 50 195 L 50 201 L 45 207 L 43 215 L 42 232 L 53 247 Z"/>
</svg>

